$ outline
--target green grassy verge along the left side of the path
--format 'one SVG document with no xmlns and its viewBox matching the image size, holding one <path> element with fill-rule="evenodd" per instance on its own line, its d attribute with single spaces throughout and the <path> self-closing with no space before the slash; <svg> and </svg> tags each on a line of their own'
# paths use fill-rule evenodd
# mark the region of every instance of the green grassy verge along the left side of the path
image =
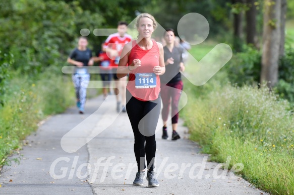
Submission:
<svg viewBox="0 0 294 195">
<path fill-rule="evenodd" d="M 37 129 L 40 120 L 75 102 L 71 77 L 62 75 L 58 67 L 49 67 L 35 78 L 10 73 L 13 79 L 0 108 L 0 157 L 21 149 L 21 140 Z"/>
</svg>

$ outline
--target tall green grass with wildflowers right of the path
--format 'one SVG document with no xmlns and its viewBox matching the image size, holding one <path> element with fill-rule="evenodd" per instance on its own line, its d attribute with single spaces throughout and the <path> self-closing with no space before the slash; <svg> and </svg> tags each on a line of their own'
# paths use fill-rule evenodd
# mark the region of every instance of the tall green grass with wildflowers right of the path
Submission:
<svg viewBox="0 0 294 195">
<path fill-rule="evenodd" d="M 192 50 L 201 56 L 209 48 Z M 224 70 L 203 86 L 184 80 L 184 91 L 181 117 L 203 153 L 217 162 L 231 156 L 230 167 L 243 163 L 238 174 L 271 194 L 294 194 L 294 118 L 287 101 L 266 88 L 231 86 Z"/>
</svg>

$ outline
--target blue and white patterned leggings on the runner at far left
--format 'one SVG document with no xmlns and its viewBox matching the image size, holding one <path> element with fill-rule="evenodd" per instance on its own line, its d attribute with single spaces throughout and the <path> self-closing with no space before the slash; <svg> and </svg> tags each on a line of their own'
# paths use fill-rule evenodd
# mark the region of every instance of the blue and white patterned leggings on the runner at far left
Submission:
<svg viewBox="0 0 294 195">
<path fill-rule="evenodd" d="M 87 96 L 87 87 L 90 80 L 90 74 L 73 74 L 72 76 L 73 83 L 76 89 L 76 97 L 80 100 L 81 106 L 80 109 L 84 110 Z"/>
</svg>

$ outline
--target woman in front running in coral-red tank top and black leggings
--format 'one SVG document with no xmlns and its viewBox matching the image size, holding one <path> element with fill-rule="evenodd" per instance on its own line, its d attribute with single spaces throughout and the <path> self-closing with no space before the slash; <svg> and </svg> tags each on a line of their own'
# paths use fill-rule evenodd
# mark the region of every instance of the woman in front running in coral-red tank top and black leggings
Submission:
<svg viewBox="0 0 294 195">
<path fill-rule="evenodd" d="M 130 73 L 126 107 L 134 133 L 134 152 L 138 165 L 133 185 L 143 185 L 146 154 L 146 178 L 149 187 L 159 186 L 154 172 L 155 129 L 161 106 L 159 75 L 165 72 L 163 47 L 151 40 L 156 26 L 155 19 L 149 14 L 140 14 L 137 17 L 138 39 L 124 46 L 117 68 L 119 78 Z"/>
</svg>

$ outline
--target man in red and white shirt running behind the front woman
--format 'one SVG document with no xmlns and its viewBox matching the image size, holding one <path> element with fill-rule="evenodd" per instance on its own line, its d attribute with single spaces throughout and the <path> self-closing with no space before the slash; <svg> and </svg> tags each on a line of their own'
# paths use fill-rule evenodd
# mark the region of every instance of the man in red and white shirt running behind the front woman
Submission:
<svg viewBox="0 0 294 195">
<path fill-rule="evenodd" d="M 127 86 L 127 77 L 117 78 L 116 77 L 116 68 L 119 65 L 120 56 L 125 44 L 129 43 L 132 40 L 132 37 L 127 34 L 127 23 L 119 22 L 117 25 L 117 33 L 109 35 L 104 43 L 103 50 L 106 51 L 106 54 L 111 59 L 110 65 L 113 67 L 113 79 L 115 83 L 115 94 L 116 94 L 116 111 L 121 111 L 121 103 L 122 103 L 122 111 L 126 112 L 126 86 Z M 121 94 L 122 100 L 120 101 L 120 96 L 117 94 Z"/>
</svg>

